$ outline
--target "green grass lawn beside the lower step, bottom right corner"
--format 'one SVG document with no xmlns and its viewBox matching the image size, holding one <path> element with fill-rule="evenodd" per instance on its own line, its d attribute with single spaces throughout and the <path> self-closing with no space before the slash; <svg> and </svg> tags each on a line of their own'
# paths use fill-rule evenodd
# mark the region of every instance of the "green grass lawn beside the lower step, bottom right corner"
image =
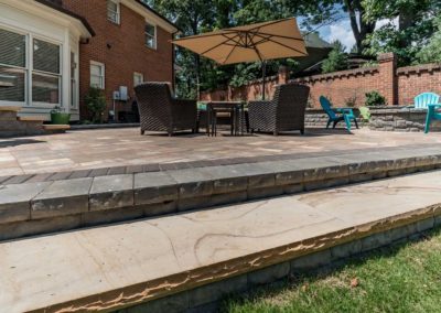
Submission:
<svg viewBox="0 0 441 313">
<path fill-rule="evenodd" d="M 223 311 L 441 312 L 441 228 L 334 269 L 228 299 Z"/>
</svg>

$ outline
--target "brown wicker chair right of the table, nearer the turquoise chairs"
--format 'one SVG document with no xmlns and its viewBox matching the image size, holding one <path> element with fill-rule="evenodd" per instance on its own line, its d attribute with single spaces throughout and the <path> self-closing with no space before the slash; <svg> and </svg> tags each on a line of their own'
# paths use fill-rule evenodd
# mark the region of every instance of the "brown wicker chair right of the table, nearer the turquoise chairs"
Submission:
<svg viewBox="0 0 441 313">
<path fill-rule="evenodd" d="M 310 88 L 287 84 L 277 86 L 270 101 L 248 104 L 249 127 L 252 131 L 272 132 L 300 130 L 304 133 L 304 112 Z"/>
</svg>

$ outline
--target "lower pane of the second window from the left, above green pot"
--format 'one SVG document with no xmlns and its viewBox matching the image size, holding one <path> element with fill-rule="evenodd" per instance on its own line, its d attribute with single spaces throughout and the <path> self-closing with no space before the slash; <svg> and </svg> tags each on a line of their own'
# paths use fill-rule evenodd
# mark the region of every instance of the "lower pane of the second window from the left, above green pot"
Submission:
<svg viewBox="0 0 441 313">
<path fill-rule="evenodd" d="M 32 100 L 35 102 L 60 104 L 60 77 L 33 74 Z"/>
</svg>

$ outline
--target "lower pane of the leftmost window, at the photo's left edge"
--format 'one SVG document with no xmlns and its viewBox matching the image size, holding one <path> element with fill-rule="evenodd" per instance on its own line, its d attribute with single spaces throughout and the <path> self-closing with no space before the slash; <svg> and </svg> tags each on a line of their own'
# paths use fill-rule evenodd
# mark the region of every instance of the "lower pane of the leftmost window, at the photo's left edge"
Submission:
<svg viewBox="0 0 441 313">
<path fill-rule="evenodd" d="M 24 102 L 25 72 L 0 66 L 0 101 Z"/>
</svg>

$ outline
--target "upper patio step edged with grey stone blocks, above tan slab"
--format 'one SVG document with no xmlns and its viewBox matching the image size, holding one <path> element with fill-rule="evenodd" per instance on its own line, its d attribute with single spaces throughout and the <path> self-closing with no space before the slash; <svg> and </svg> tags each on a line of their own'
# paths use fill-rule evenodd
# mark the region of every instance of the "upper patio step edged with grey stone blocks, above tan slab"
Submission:
<svg viewBox="0 0 441 313">
<path fill-rule="evenodd" d="M 50 177 L 2 177 L 0 240 L 179 214 L 434 169 L 441 169 L 438 148 L 95 177 L 73 179 L 75 172 L 55 173 Z"/>
</svg>

